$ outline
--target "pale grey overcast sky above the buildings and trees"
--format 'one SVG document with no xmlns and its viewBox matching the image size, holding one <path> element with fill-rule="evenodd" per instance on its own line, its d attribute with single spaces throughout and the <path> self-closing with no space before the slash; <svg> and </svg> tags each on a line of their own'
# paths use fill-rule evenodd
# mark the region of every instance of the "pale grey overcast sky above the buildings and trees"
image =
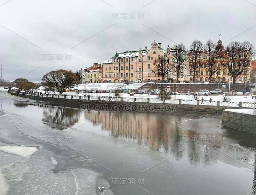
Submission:
<svg viewBox="0 0 256 195">
<path fill-rule="evenodd" d="M 11 81 L 37 83 L 52 70 L 102 63 L 116 44 L 118 52 L 150 48 L 154 40 L 189 47 L 196 39 L 217 43 L 221 33 L 224 46 L 256 46 L 256 0 L 8 1 L 0 0 L 0 63 Z"/>
</svg>

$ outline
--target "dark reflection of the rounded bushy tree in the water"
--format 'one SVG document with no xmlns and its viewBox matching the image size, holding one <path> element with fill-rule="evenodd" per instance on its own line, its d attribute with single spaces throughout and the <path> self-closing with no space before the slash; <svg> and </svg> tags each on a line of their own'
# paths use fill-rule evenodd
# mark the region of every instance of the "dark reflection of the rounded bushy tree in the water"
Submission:
<svg viewBox="0 0 256 195">
<path fill-rule="evenodd" d="M 67 129 L 78 122 L 78 108 L 69 108 L 61 106 L 44 106 L 43 119 L 47 125 L 59 130 Z"/>
</svg>

